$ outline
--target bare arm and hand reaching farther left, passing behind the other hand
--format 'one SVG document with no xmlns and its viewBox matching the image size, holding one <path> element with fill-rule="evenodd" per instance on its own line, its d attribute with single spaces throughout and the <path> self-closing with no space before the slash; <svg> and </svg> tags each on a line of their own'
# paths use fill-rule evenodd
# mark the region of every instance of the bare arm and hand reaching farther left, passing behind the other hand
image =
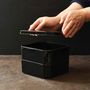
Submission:
<svg viewBox="0 0 90 90">
<path fill-rule="evenodd" d="M 64 11 L 62 11 L 62 15 L 64 14 L 64 12 L 66 15 L 66 11 L 76 10 L 76 9 L 81 9 L 81 8 L 82 8 L 82 6 L 80 4 L 74 2 L 68 8 L 66 8 Z M 52 31 L 54 29 L 56 30 L 59 26 L 60 17 L 61 17 L 61 13 L 54 17 L 40 17 L 32 25 L 30 25 L 29 30 L 31 30 L 31 29 L 41 30 L 44 27 L 48 27 Z"/>
</svg>

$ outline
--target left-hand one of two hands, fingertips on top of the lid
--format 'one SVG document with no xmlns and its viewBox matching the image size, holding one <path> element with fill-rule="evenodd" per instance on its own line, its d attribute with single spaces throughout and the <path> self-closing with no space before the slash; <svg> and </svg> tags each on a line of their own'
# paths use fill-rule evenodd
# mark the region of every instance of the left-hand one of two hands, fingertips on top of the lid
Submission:
<svg viewBox="0 0 90 90">
<path fill-rule="evenodd" d="M 57 30 L 59 27 L 59 18 L 57 17 L 40 17 L 32 25 L 30 25 L 30 30 L 46 30 L 50 29 L 51 31 Z"/>
</svg>

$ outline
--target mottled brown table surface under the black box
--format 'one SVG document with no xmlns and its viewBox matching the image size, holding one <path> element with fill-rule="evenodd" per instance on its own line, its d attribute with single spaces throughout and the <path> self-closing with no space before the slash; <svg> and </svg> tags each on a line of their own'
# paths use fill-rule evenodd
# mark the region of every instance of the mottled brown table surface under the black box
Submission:
<svg viewBox="0 0 90 90">
<path fill-rule="evenodd" d="M 69 73 L 40 79 L 22 73 L 20 55 L 0 55 L 0 90 L 90 90 L 90 55 L 73 55 Z"/>
</svg>

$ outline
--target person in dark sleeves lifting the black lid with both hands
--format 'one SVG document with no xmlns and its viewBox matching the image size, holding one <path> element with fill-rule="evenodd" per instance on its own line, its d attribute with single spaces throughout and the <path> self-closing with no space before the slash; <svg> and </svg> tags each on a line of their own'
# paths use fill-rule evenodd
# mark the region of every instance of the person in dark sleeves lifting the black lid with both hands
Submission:
<svg viewBox="0 0 90 90">
<path fill-rule="evenodd" d="M 72 0 L 70 6 L 53 17 L 40 17 L 32 25 L 30 30 L 43 30 L 50 28 L 55 31 L 62 27 L 62 33 L 66 38 L 72 38 L 87 21 L 90 21 L 90 0 Z"/>
</svg>

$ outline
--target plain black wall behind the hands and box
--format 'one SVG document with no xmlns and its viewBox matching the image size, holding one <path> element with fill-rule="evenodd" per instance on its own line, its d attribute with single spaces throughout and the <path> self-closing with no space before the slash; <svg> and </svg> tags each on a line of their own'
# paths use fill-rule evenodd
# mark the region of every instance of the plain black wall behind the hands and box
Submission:
<svg viewBox="0 0 90 90">
<path fill-rule="evenodd" d="M 22 29 L 41 16 L 55 16 L 65 9 L 71 0 L 0 0 L 0 54 L 20 54 Z M 47 41 L 65 43 L 71 54 L 90 54 L 90 24 L 86 23 L 72 39 L 43 37 Z M 34 38 L 37 40 L 37 38 Z M 31 37 L 30 42 L 34 41 Z"/>
</svg>

